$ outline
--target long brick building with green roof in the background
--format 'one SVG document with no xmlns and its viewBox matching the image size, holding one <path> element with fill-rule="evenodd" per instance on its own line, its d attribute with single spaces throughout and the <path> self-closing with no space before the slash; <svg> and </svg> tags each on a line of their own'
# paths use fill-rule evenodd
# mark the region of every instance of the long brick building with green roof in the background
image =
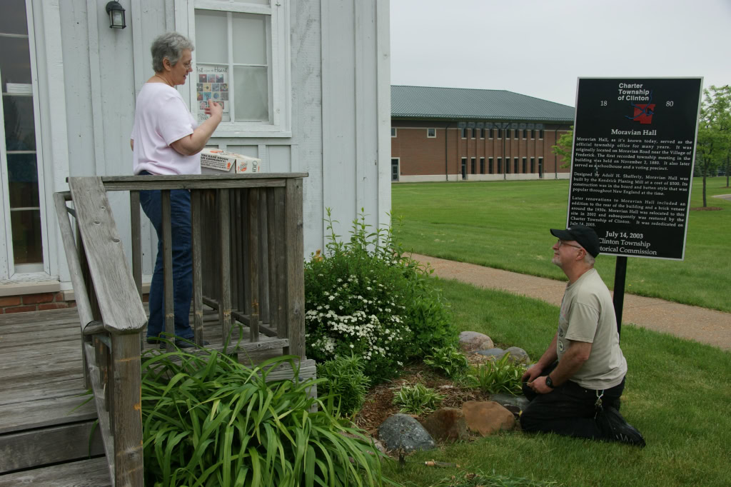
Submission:
<svg viewBox="0 0 731 487">
<path fill-rule="evenodd" d="M 551 146 L 573 122 L 512 91 L 391 86 L 391 181 L 568 178 Z"/>
</svg>

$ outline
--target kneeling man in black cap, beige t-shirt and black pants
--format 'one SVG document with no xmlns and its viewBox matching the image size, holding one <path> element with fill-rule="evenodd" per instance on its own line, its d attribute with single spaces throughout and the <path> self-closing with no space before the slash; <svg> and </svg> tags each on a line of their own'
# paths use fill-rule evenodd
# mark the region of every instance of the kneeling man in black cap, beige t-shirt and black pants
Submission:
<svg viewBox="0 0 731 487">
<path fill-rule="evenodd" d="M 550 230 L 558 238 L 552 263 L 569 278 L 558 331 L 538 363 L 523 374 L 531 401 L 520 415 L 524 431 L 645 446 L 619 414 L 627 363 L 619 348 L 614 306 L 594 269 L 599 238 L 589 227 Z"/>
</svg>

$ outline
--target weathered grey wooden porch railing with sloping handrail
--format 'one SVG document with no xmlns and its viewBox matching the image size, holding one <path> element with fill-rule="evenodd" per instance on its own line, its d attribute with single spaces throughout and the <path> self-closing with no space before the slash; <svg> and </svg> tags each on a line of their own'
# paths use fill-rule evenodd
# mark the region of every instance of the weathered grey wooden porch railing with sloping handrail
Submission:
<svg viewBox="0 0 731 487">
<path fill-rule="evenodd" d="M 94 390 L 113 485 L 143 485 L 140 332 L 147 316 L 142 301 L 140 190 L 162 190 L 166 333 L 174 334 L 170 190 L 189 189 L 191 326 L 196 343 L 202 344 L 205 305 L 218 312 L 223 352 L 280 349 L 304 360 L 302 178 L 306 176 L 80 177 L 69 178 L 69 192 L 54 195 L 81 324 L 84 377 Z M 129 191 L 132 269 L 108 191 Z M 232 333 L 235 321 L 246 333 Z M 168 350 L 172 347 L 167 344 Z"/>
</svg>

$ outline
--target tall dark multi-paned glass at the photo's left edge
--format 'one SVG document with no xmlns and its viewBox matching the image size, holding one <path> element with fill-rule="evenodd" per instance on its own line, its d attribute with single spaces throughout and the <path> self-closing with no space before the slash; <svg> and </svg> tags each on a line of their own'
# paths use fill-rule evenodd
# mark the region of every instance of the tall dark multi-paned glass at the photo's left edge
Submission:
<svg viewBox="0 0 731 487">
<path fill-rule="evenodd" d="M 30 3 L 30 2 L 29 2 Z M 36 133 L 38 100 L 34 94 L 34 53 L 31 53 L 26 2 L 4 2 L 4 21 L 0 23 L 0 116 L 4 119 L 4 137 L 0 138 L 3 178 L 0 204 L 6 208 L 0 216 L 7 238 L 7 254 L 0 256 L 0 275 L 44 271 L 43 181 Z M 7 235 L 7 237 L 6 237 Z M 7 266 L 7 267 L 6 267 Z"/>
</svg>

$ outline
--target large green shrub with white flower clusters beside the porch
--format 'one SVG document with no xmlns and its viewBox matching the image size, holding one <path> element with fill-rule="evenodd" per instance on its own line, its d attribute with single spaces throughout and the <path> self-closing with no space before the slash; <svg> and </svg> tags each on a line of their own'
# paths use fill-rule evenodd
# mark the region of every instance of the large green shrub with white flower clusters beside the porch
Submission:
<svg viewBox="0 0 731 487">
<path fill-rule="evenodd" d="M 452 343 L 456 331 L 429 271 L 404 257 L 390 227 L 371 230 L 366 215 L 340 241 L 327 208 L 325 254 L 305 263 L 307 355 L 317 361 L 351 353 L 374 382 L 404 362 Z"/>
</svg>

